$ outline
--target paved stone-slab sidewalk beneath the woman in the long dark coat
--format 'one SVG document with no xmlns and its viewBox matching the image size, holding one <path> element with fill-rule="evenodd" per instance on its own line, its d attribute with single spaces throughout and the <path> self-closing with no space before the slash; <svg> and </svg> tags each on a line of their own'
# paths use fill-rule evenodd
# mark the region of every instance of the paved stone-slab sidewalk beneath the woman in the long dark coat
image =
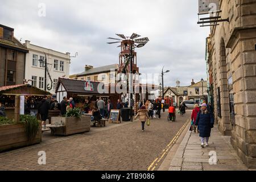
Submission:
<svg viewBox="0 0 256 182">
<path fill-rule="evenodd" d="M 230 137 L 221 135 L 215 125 L 209 139 L 209 147 L 200 147 L 197 133 L 187 131 L 171 160 L 169 171 L 247 171 L 230 144 Z M 216 152 L 217 164 L 209 164 L 213 159 L 209 152 Z M 210 156 L 209 156 L 210 155 Z M 210 160 L 214 162 L 214 160 Z"/>
</svg>

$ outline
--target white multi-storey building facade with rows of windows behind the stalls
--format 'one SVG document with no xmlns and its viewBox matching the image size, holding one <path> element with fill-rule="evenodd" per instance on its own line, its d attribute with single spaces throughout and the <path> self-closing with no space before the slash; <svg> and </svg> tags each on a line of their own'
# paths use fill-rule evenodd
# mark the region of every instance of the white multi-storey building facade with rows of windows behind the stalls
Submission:
<svg viewBox="0 0 256 182">
<path fill-rule="evenodd" d="M 35 46 L 30 44 L 30 41 L 28 40 L 26 40 L 24 46 L 29 51 L 26 55 L 25 79 L 32 86 L 42 90 L 44 90 L 44 84 L 49 84 L 47 91 L 51 94 L 55 94 L 59 77 L 69 77 L 69 67 L 71 63 L 70 53 L 61 53 L 53 51 L 52 49 Z M 52 86 L 48 74 L 47 83 L 44 82 L 45 67 L 44 63 L 39 60 L 45 61 L 45 57 L 47 57 L 47 68 L 52 79 Z"/>
</svg>

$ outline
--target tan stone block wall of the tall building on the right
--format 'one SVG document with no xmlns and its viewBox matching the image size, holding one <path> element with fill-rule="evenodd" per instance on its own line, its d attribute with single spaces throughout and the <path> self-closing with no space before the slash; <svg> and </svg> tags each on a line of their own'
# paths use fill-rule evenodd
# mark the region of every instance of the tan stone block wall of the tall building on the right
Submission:
<svg viewBox="0 0 256 182">
<path fill-rule="evenodd" d="M 232 135 L 232 145 L 240 158 L 248 167 L 256 168 L 256 0 L 223 0 L 220 5 L 222 19 L 229 18 L 229 22 L 211 28 L 213 49 L 209 55 L 218 129 Z M 234 122 L 229 105 L 232 93 Z"/>
</svg>

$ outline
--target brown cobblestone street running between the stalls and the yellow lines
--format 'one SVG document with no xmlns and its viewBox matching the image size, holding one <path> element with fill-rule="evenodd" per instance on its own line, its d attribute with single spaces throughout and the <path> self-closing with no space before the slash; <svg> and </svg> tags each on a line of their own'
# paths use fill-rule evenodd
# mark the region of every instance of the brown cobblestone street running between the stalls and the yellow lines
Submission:
<svg viewBox="0 0 256 182">
<path fill-rule="evenodd" d="M 157 170 L 163 151 L 171 147 L 190 115 L 191 111 L 184 117 L 177 114 L 176 122 L 170 123 L 166 112 L 161 119 L 151 119 L 145 133 L 141 122 L 135 121 L 70 137 L 47 135 L 35 146 L 1 153 L 0 170 L 147 170 L 150 166 Z M 39 151 L 46 152 L 46 165 L 38 164 Z"/>
</svg>

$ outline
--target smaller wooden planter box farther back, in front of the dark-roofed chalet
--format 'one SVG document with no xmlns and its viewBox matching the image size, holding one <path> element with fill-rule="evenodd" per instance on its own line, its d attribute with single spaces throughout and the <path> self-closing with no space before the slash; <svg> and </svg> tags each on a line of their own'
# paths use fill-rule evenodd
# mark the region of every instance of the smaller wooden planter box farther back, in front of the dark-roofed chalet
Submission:
<svg viewBox="0 0 256 182">
<path fill-rule="evenodd" d="M 53 135 L 72 135 L 90 131 L 90 116 L 76 117 L 52 117 L 51 133 Z"/>
</svg>

